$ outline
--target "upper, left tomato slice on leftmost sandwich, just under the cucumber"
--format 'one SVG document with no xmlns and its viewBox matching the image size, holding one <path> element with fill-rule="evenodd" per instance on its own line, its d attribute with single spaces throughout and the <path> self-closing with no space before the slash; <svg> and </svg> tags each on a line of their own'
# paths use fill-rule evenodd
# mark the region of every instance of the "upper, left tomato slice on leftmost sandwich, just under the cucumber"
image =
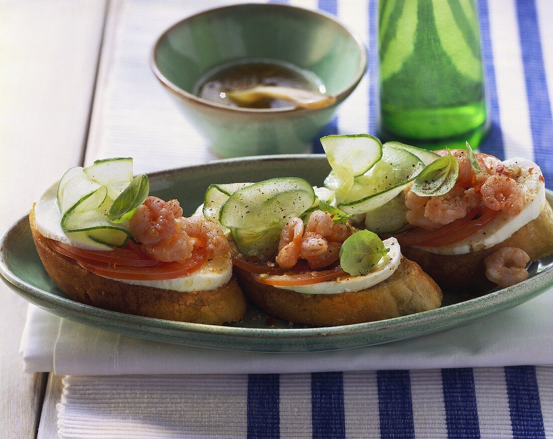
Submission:
<svg viewBox="0 0 553 439">
<path fill-rule="evenodd" d="M 76 260 L 105 262 L 129 267 L 156 267 L 161 264 L 160 261 L 143 252 L 140 246 L 130 242 L 124 248 L 114 248 L 111 251 L 85 250 L 51 239 L 48 239 L 48 244 L 58 253 Z"/>
</svg>

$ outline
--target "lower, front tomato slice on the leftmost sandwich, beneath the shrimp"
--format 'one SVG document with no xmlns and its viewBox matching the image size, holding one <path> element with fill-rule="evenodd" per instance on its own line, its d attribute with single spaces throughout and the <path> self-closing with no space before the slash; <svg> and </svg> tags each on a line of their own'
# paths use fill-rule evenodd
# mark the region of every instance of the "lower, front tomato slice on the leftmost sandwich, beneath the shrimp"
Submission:
<svg viewBox="0 0 553 439">
<path fill-rule="evenodd" d="M 200 269 L 206 261 L 207 253 L 197 251 L 192 253 L 184 263 L 161 262 L 156 267 L 129 267 L 124 265 L 109 264 L 103 262 L 92 262 L 77 260 L 77 263 L 88 271 L 99 276 L 113 279 L 127 279 L 132 281 L 164 281 L 175 279 L 194 273 Z"/>
</svg>

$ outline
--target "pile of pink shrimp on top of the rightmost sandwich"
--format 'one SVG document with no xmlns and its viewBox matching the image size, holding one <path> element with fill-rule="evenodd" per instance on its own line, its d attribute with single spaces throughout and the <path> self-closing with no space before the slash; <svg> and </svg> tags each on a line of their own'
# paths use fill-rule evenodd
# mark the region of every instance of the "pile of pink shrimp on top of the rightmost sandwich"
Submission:
<svg viewBox="0 0 553 439">
<path fill-rule="evenodd" d="M 524 193 L 514 178 L 516 170 L 507 169 L 493 156 L 478 154 L 484 170 L 475 174 L 469 165 L 465 151 L 453 155 L 459 164 L 459 176 L 455 187 L 439 197 L 420 197 L 405 189 L 406 218 L 409 224 L 423 229 L 437 229 L 453 221 L 465 218 L 476 207 L 501 210 L 508 215 L 518 215 L 524 207 Z"/>
</svg>

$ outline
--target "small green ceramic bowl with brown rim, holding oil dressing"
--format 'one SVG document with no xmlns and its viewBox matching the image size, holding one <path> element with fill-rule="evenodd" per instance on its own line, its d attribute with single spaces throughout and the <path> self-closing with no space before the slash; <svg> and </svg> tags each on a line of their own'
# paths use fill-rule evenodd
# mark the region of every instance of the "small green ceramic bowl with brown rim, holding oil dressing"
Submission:
<svg viewBox="0 0 553 439">
<path fill-rule="evenodd" d="M 248 59 L 315 73 L 336 104 L 318 110 L 236 108 L 193 94 L 213 68 Z M 222 157 L 305 152 L 366 64 L 361 39 L 331 15 L 282 4 L 238 4 L 193 15 L 161 34 L 151 59 L 155 76 Z"/>
</svg>

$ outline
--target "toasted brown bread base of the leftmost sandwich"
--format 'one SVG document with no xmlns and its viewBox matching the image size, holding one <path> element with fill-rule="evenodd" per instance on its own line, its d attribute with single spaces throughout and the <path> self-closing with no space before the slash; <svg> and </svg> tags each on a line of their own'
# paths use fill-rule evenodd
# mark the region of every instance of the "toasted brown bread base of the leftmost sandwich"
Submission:
<svg viewBox="0 0 553 439">
<path fill-rule="evenodd" d="M 78 302 L 119 313 L 208 325 L 239 321 L 246 314 L 246 298 L 234 276 L 215 290 L 186 293 L 119 282 L 91 273 L 52 250 L 36 230 L 34 208 L 29 213 L 29 223 L 46 272 Z"/>
</svg>

